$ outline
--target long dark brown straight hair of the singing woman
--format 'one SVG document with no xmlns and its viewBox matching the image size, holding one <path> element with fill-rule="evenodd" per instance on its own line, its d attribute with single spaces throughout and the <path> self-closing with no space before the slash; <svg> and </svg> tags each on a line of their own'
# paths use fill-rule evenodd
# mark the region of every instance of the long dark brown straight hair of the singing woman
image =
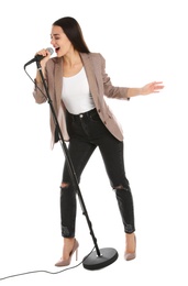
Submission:
<svg viewBox="0 0 188 286">
<path fill-rule="evenodd" d="M 79 23 L 71 16 L 64 16 L 58 19 L 53 23 L 53 25 L 58 25 L 63 29 L 64 33 L 71 42 L 75 50 L 80 53 L 89 54 L 90 51 L 85 42 L 81 28 Z"/>
</svg>

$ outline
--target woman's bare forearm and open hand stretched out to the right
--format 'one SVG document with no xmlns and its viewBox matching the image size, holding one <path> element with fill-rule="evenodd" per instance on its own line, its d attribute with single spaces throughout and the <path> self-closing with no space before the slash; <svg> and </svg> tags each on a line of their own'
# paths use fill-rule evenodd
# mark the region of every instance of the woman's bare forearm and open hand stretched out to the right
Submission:
<svg viewBox="0 0 188 286">
<path fill-rule="evenodd" d="M 126 92 L 126 97 L 131 98 L 136 96 L 147 96 L 150 94 L 159 92 L 159 90 L 164 88 L 162 84 L 163 84 L 162 81 L 153 81 L 141 88 L 129 88 Z"/>
</svg>

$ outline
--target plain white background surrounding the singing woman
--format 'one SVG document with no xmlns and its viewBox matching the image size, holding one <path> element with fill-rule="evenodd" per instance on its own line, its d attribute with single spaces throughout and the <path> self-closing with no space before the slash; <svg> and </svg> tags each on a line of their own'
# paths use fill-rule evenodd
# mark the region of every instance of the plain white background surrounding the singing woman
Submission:
<svg viewBox="0 0 188 286">
<path fill-rule="evenodd" d="M 51 150 L 48 103 L 35 103 L 23 65 L 51 46 L 52 23 L 74 16 L 91 52 L 107 61 L 113 85 L 165 89 L 128 101 L 109 100 L 124 130 L 137 257 L 123 260 L 124 233 L 114 194 L 96 151 L 80 185 L 102 248 L 119 258 L 100 271 L 80 265 L 56 275 L 37 273 L 1 285 L 187 285 L 187 1 L 8 0 L 0 10 L 0 278 L 33 271 L 57 272 L 60 257 L 60 145 Z M 27 66 L 34 78 L 35 64 Z M 81 262 L 93 242 L 78 202 Z M 73 257 L 71 265 L 76 265 Z"/>
</svg>

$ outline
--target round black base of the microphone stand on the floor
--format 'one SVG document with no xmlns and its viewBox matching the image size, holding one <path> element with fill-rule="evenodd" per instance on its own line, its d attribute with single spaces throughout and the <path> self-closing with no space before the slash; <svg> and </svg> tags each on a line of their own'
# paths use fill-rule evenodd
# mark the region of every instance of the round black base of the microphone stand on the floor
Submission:
<svg viewBox="0 0 188 286">
<path fill-rule="evenodd" d="M 118 252 L 114 249 L 101 249 L 100 256 L 93 251 L 86 260 L 82 262 L 82 266 L 86 270 L 96 271 L 103 268 L 118 258 Z"/>
</svg>

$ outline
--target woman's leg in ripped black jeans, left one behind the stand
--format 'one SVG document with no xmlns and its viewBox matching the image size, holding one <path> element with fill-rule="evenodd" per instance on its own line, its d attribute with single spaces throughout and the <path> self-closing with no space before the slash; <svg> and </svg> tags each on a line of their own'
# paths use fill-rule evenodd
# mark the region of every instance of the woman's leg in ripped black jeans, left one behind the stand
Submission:
<svg viewBox="0 0 188 286">
<path fill-rule="evenodd" d="M 68 152 L 78 183 L 95 148 L 93 144 L 77 139 L 70 140 Z M 71 182 L 67 162 L 65 162 L 60 186 L 60 220 L 62 235 L 64 238 L 63 261 L 69 257 L 75 243 L 76 206 L 76 188 Z"/>
</svg>

